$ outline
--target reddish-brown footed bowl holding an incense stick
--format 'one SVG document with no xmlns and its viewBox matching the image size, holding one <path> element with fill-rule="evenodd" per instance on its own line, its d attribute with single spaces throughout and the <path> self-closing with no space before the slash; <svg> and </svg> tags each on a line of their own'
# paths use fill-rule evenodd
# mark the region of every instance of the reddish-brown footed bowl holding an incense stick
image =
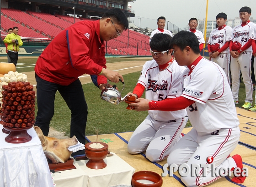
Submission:
<svg viewBox="0 0 256 187">
<path fill-rule="evenodd" d="M 96 142 L 90 142 L 85 144 L 85 155 L 89 158 L 89 161 L 86 163 L 86 166 L 91 169 L 103 169 L 107 167 L 107 164 L 104 162 L 104 158 L 108 154 L 108 145 L 107 143 L 98 142 L 104 147 L 100 149 L 91 148 L 90 145 Z"/>
</svg>

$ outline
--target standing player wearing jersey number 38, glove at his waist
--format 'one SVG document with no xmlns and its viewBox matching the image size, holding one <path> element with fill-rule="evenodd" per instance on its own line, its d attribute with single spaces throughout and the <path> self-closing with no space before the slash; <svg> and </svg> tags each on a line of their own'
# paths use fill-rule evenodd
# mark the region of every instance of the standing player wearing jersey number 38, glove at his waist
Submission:
<svg viewBox="0 0 256 187">
<path fill-rule="evenodd" d="M 214 29 L 208 40 L 208 51 L 211 61 L 217 63 L 225 72 L 229 81 L 229 42 L 232 28 L 225 25 L 227 15 L 223 12 L 216 16 L 218 28 Z"/>
</svg>

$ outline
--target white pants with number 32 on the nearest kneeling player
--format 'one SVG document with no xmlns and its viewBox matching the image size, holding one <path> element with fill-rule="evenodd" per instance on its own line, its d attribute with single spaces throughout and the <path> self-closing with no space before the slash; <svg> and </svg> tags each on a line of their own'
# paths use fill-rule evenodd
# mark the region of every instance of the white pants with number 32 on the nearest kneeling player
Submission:
<svg viewBox="0 0 256 187">
<path fill-rule="evenodd" d="M 220 168 L 235 168 L 236 164 L 229 154 L 235 149 L 240 138 L 239 127 L 232 129 L 220 129 L 214 133 L 197 132 L 194 128 L 181 138 L 171 150 L 167 163 L 180 166 L 187 163 L 206 164 L 207 157 L 212 156 L 214 166 Z M 202 176 L 203 168 L 200 168 L 200 176 L 181 177 L 181 181 L 187 187 L 205 186 L 214 182 L 220 177 L 212 176 L 211 170 L 207 170 L 206 177 Z M 226 173 L 228 175 L 228 173 Z"/>
</svg>

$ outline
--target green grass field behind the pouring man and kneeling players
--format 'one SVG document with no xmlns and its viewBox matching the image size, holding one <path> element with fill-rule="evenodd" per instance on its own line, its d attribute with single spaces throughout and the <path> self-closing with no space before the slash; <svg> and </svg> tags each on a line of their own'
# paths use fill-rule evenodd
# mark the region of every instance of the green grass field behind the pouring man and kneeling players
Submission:
<svg viewBox="0 0 256 187">
<path fill-rule="evenodd" d="M 17 71 L 34 71 L 34 65 L 36 63 L 36 60 L 36 58 L 19 59 Z M 107 63 L 133 60 L 147 59 L 107 58 Z M 140 71 L 123 76 L 125 80 L 125 89 L 123 90 L 122 96 L 125 96 L 126 93 L 133 91 L 133 88 L 135 87 L 139 76 Z M 118 83 L 117 86 L 122 87 L 122 84 Z M 134 131 L 136 127 L 139 126 L 139 124 L 148 115 L 147 111 L 137 112 L 127 110 L 127 104 L 125 102 L 121 102 L 118 105 L 113 105 L 111 103 L 101 100 L 101 91 L 96 86 L 94 86 L 93 83 L 83 85 L 83 89 L 85 92 L 85 99 L 88 105 L 86 135 L 96 134 L 96 129 L 99 130 L 100 134 Z M 255 96 L 255 91 L 253 96 Z M 142 97 L 145 96 L 143 95 Z M 244 104 L 244 99 L 245 85 L 241 83 L 239 91 L 239 105 L 237 105 L 238 107 L 241 107 Z M 56 93 L 55 111 L 50 126 L 53 127 L 56 131 L 64 132 L 66 136 L 69 136 L 70 111 L 63 98 L 60 96 L 59 92 Z M 186 127 L 188 126 L 191 126 L 189 121 Z"/>
</svg>

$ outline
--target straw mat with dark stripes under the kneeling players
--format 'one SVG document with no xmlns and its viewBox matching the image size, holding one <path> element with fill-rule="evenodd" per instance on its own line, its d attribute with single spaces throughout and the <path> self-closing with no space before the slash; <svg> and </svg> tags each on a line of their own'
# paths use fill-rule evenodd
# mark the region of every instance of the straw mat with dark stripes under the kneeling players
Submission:
<svg viewBox="0 0 256 187">
<path fill-rule="evenodd" d="M 208 187 L 255 187 L 256 181 L 256 115 L 254 112 L 249 112 L 244 109 L 237 108 L 238 118 L 240 120 L 240 142 L 231 153 L 231 156 L 240 154 L 243 159 L 244 167 L 248 168 L 249 176 L 246 178 L 243 184 L 236 184 L 231 182 L 232 177 L 222 177 L 217 181 L 208 185 Z M 187 133 L 192 127 L 185 128 L 182 132 Z M 133 132 L 122 132 L 114 134 L 104 134 L 98 136 L 99 142 L 105 142 L 109 146 L 109 151 L 116 153 L 125 162 L 136 169 L 135 172 L 147 170 L 160 174 L 163 173 L 163 165 L 166 163 L 166 159 L 161 162 L 149 162 L 145 158 L 144 153 L 138 155 L 131 155 L 127 151 L 127 143 L 132 136 Z M 96 142 L 96 136 L 86 136 L 90 142 Z M 173 177 L 167 175 L 163 178 L 162 187 L 183 187 L 183 183 L 180 180 L 178 172 L 174 173 Z"/>
</svg>

